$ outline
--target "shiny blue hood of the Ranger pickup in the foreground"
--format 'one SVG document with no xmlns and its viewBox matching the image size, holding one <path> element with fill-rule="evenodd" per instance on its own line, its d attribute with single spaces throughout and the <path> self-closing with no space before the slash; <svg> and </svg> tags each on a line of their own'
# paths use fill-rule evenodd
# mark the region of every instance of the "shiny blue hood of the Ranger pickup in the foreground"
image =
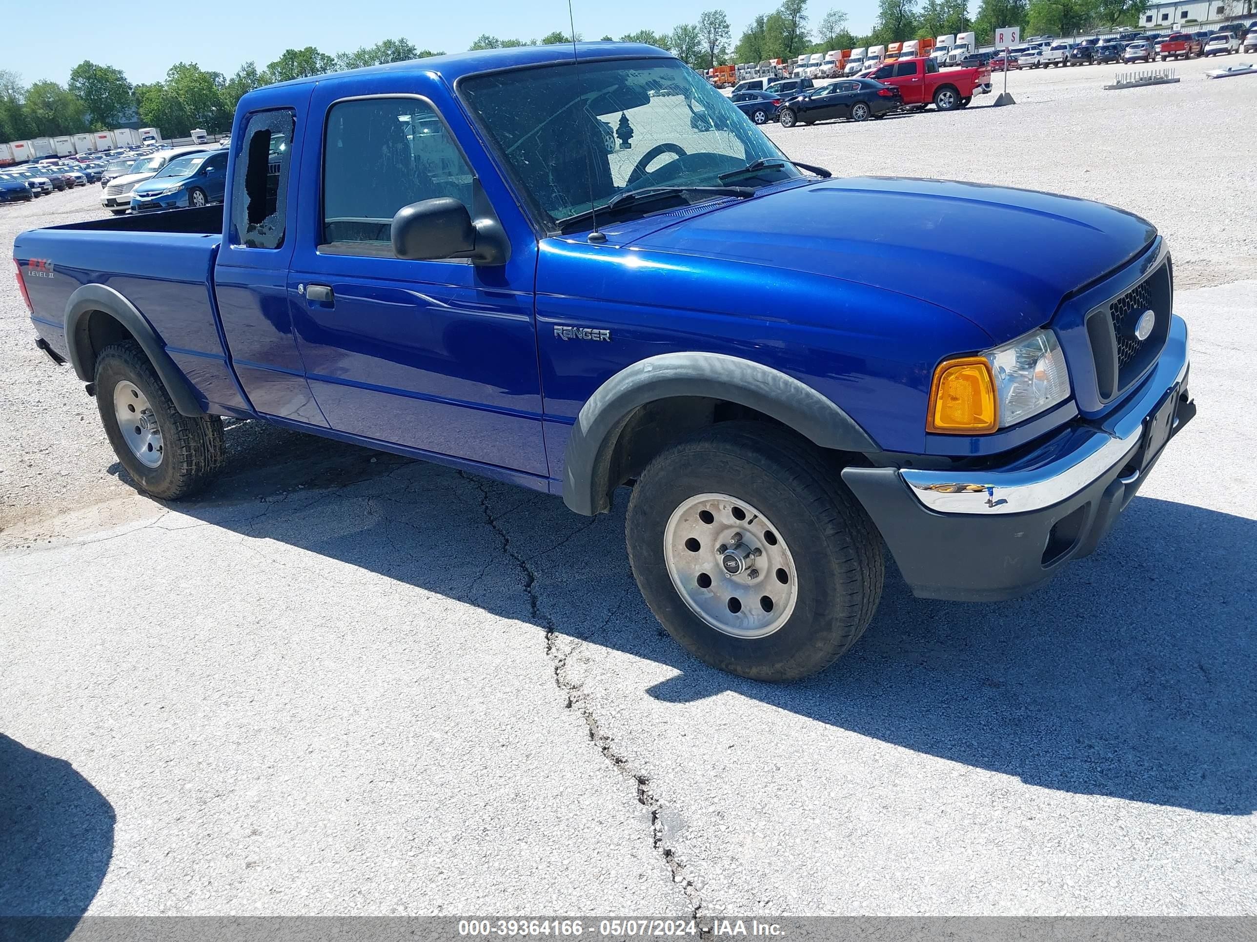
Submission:
<svg viewBox="0 0 1257 942">
<path fill-rule="evenodd" d="M 968 318 L 1002 343 L 1046 324 L 1067 294 L 1155 237 L 1139 216 L 1075 197 L 850 177 L 730 203 L 631 245 L 910 295 Z"/>
</svg>

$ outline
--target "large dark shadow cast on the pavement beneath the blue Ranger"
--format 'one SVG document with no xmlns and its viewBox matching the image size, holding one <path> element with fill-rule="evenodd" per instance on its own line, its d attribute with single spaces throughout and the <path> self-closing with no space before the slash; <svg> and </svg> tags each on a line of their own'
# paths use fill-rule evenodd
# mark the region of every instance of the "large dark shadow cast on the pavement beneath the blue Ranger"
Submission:
<svg viewBox="0 0 1257 942">
<path fill-rule="evenodd" d="M 313 441 L 313 463 L 268 468 L 285 492 L 258 496 L 245 467 L 177 510 L 662 663 L 678 674 L 646 691 L 659 701 L 733 691 L 1042 788 L 1257 809 L 1257 521 L 1136 497 L 1095 555 L 1001 604 L 916 599 L 891 565 L 856 647 L 776 686 L 713 671 L 664 634 L 628 571 L 626 492 L 590 520 L 557 497 Z M 334 480 L 352 484 L 316 490 Z"/>
</svg>

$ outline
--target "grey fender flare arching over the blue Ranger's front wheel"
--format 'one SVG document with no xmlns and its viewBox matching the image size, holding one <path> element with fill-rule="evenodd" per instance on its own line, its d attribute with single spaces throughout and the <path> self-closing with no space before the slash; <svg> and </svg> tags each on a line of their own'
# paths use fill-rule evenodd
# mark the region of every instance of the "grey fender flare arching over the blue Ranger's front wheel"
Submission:
<svg viewBox="0 0 1257 942">
<path fill-rule="evenodd" d="M 563 502 L 586 516 L 607 510 L 611 458 L 630 417 L 647 403 L 688 396 L 763 412 L 822 448 L 880 451 L 831 399 L 778 369 L 723 353 L 664 353 L 625 367 L 581 407 L 567 440 Z"/>
</svg>

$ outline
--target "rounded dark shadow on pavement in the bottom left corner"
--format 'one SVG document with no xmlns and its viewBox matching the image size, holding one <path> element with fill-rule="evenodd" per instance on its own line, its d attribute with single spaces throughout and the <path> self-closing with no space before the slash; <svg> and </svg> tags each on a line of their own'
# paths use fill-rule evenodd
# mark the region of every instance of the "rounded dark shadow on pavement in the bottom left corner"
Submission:
<svg viewBox="0 0 1257 942">
<path fill-rule="evenodd" d="M 0 735 L 0 936 L 67 938 L 104 879 L 113 824 L 69 762 Z"/>
</svg>

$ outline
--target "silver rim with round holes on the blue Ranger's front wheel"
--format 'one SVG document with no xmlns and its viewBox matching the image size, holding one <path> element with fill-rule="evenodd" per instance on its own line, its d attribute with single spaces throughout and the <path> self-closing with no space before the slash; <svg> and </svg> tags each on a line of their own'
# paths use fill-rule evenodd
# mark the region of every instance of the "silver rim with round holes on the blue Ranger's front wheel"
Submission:
<svg viewBox="0 0 1257 942">
<path fill-rule="evenodd" d="M 699 494 L 664 528 L 672 587 L 705 624 L 734 638 L 779 631 L 798 602 L 798 571 L 781 531 L 728 494 Z"/>
</svg>

